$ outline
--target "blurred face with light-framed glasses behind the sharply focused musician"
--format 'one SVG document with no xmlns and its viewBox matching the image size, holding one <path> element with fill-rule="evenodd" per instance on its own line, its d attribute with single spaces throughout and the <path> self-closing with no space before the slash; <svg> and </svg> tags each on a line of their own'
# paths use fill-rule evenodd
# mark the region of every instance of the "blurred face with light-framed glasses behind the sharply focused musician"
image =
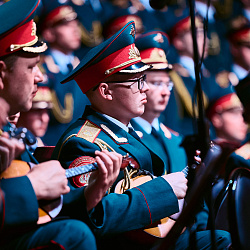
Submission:
<svg viewBox="0 0 250 250">
<path fill-rule="evenodd" d="M 147 83 L 150 87 L 147 92 L 147 104 L 145 113 L 150 112 L 158 117 L 168 104 L 170 97 L 170 86 L 172 82 L 166 71 L 147 71 Z"/>
</svg>

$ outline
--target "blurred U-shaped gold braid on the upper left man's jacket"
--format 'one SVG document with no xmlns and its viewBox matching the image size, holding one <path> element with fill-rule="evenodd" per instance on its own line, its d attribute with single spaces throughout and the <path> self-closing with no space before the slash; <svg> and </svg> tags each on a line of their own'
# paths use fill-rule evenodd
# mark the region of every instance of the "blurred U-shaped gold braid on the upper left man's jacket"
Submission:
<svg viewBox="0 0 250 250">
<path fill-rule="evenodd" d="M 73 118 L 74 99 L 71 93 L 67 93 L 64 97 L 65 109 L 61 106 L 55 91 L 51 91 L 52 95 L 52 113 L 56 120 L 60 123 L 69 123 Z"/>
</svg>

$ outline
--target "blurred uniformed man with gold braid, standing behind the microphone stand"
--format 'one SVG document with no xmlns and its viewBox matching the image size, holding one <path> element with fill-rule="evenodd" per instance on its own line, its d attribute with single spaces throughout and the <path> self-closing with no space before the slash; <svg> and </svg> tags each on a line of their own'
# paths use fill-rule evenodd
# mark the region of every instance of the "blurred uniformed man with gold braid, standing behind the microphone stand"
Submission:
<svg viewBox="0 0 250 250">
<path fill-rule="evenodd" d="M 195 25 L 198 54 L 201 57 L 203 53 L 204 30 L 203 23 L 198 16 L 195 17 Z M 169 36 L 179 54 L 179 58 L 178 63 L 174 64 L 177 74 L 172 75 L 174 91 L 170 96 L 166 110 L 162 113 L 162 119 L 166 126 L 184 136 L 193 135 L 197 133 L 198 106 L 189 11 L 186 9 L 182 12 L 182 15 L 175 18 L 171 27 Z M 205 57 L 207 49 L 207 46 L 205 46 Z M 204 107 L 207 108 L 209 102 L 221 91 L 221 87 L 215 80 L 215 76 L 204 65 L 201 65 L 200 79 Z M 229 81 L 227 81 L 223 87 L 227 87 L 229 84 Z"/>
</svg>

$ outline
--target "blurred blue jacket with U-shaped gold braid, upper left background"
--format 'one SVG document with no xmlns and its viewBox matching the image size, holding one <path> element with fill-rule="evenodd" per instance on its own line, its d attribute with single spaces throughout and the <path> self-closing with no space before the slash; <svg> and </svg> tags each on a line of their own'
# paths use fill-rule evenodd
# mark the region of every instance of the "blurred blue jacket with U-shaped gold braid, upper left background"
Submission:
<svg viewBox="0 0 250 250">
<path fill-rule="evenodd" d="M 49 126 L 42 140 L 46 145 L 55 146 L 68 126 L 82 115 L 82 107 L 88 103 L 88 99 L 74 81 L 67 84 L 60 83 L 79 63 L 77 57 L 74 57 L 73 62 L 68 65 L 68 71 L 65 72 L 62 72 L 54 54 L 50 50 L 46 52 L 42 58 L 42 62 L 42 67 L 46 74 L 45 83 L 52 91 L 53 104 L 50 112 Z"/>
</svg>

